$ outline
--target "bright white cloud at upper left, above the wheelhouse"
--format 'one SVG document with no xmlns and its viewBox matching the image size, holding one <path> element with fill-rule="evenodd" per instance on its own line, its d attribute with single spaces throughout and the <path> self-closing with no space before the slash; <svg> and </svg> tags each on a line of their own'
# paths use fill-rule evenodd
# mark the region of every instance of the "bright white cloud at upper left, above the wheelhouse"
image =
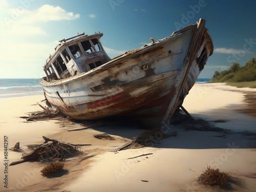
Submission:
<svg viewBox="0 0 256 192">
<path fill-rule="evenodd" d="M 1 0 L 0 0 L 1 1 Z M 37 10 L 30 11 L 17 8 L 9 8 L 4 10 L 0 16 L 0 30 L 2 36 L 30 36 L 30 35 L 45 35 L 45 31 L 41 29 L 40 23 L 58 20 L 74 20 L 80 17 L 80 14 L 68 12 L 59 6 L 43 5 Z"/>
</svg>

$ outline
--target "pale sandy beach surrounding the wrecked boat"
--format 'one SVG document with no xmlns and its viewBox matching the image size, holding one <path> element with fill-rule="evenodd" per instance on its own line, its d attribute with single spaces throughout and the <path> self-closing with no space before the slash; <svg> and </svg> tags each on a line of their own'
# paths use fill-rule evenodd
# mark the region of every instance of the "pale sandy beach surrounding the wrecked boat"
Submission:
<svg viewBox="0 0 256 192">
<path fill-rule="evenodd" d="M 68 132 L 76 124 L 63 120 L 44 120 L 26 123 L 27 112 L 41 110 L 35 104 L 44 99 L 26 96 L 0 99 L 0 160 L 3 170 L 3 138 L 8 136 L 9 148 L 16 142 L 28 152 L 27 144 L 40 144 L 42 136 L 70 143 L 88 143 L 82 146 L 84 155 L 94 157 L 79 161 L 81 157 L 67 159 L 67 174 L 56 178 L 40 175 L 45 166 L 41 162 L 25 162 L 8 167 L 8 188 L 0 185 L 0 191 L 227 191 L 219 187 L 197 184 L 197 177 L 207 166 L 219 168 L 232 178 L 229 191 L 256 191 L 256 117 L 239 110 L 247 108 L 244 96 L 247 91 L 224 83 L 195 84 L 184 100 L 184 108 L 194 117 L 203 118 L 215 126 L 236 131 L 203 132 L 186 131 L 173 126 L 176 137 L 162 139 L 160 144 L 138 149 L 109 152 L 139 135 L 143 130 L 136 127 L 104 125 L 97 129 Z M 214 122 L 222 120 L 223 122 Z M 93 134 L 106 133 L 115 140 L 99 140 Z M 22 157 L 9 151 L 9 163 Z M 147 156 L 136 157 L 142 154 Z M 0 173 L 2 181 L 4 173 Z M 142 181 L 143 180 L 143 181 Z"/>
</svg>

